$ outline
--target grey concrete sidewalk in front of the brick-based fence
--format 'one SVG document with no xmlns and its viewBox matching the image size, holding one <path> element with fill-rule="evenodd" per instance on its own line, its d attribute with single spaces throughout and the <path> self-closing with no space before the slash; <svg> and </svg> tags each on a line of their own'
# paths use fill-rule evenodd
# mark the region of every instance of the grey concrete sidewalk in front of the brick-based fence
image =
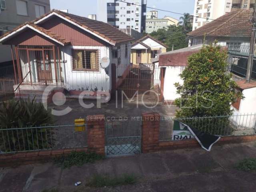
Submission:
<svg viewBox="0 0 256 192">
<path fill-rule="evenodd" d="M 0 192 L 41 192 L 51 188 L 58 188 L 58 192 L 255 191 L 256 172 L 234 169 L 236 162 L 249 157 L 256 158 L 255 142 L 215 145 L 211 152 L 196 148 L 108 158 L 63 170 L 52 163 L 0 168 Z M 115 188 L 84 186 L 88 178 L 96 173 L 134 173 L 140 179 L 137 184 Z M 75 187 L 77 181 L 81 181 L 82 185 Z"/>
</svg>

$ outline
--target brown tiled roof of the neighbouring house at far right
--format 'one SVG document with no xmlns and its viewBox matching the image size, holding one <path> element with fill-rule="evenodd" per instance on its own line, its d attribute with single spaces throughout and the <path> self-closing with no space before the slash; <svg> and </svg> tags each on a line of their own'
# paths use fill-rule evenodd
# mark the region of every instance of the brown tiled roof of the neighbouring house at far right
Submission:
<svg viewBox="0 0 256 192">
<path fill-rule="evenodd" d="M 253 10 L 239 9 L 188 33 L 188 36 L 251 36 Z"/>
</svg>

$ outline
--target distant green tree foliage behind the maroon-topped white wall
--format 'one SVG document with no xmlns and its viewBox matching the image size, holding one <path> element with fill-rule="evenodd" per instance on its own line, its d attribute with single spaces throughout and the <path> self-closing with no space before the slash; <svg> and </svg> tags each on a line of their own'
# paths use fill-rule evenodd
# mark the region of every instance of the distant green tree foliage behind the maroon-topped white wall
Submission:
<svg viewBox="0 0 256 192">
<path fill-rule="evenodd" d="M 186 42 L 187 33 L 183 26 L 171 25 L 166 29 L 153 31 L 150 35 L 166 44 L 168 46 L 167 51 L 171 51 L 172 45 L 174 45 L 174 50 L 188 46 L 188 42 Z"/>
</svg>

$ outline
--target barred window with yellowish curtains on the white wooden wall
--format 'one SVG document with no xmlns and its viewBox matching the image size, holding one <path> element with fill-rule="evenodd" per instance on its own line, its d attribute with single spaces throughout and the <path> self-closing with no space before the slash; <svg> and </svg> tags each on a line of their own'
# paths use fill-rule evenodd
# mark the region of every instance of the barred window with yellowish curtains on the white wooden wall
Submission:
<svg viewBox="0 0 256 192">
<path fill-rule="evenodd" d="M 98 50 L 72 50 L 73 70 L 99 70 Z"/>
</svg>

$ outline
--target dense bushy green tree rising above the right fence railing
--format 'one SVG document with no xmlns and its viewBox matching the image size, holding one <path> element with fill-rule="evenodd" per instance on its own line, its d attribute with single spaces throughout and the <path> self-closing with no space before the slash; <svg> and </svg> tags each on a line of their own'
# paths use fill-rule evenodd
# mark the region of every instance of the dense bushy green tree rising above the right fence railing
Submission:
<svg viewBox="0 0 256 192">
<path fill-rule="evenodd" d="M 188 58 L 188 66 L 180 74 L 184 83 L 176 83 L 180 98 L 177 117 L 231 115 L 230 103 L 242 93 L 236 93 L 236 83 L 226 73 L 227 53 L 217 42 L 204 45 L 200 52 Z"/>
</svg>

